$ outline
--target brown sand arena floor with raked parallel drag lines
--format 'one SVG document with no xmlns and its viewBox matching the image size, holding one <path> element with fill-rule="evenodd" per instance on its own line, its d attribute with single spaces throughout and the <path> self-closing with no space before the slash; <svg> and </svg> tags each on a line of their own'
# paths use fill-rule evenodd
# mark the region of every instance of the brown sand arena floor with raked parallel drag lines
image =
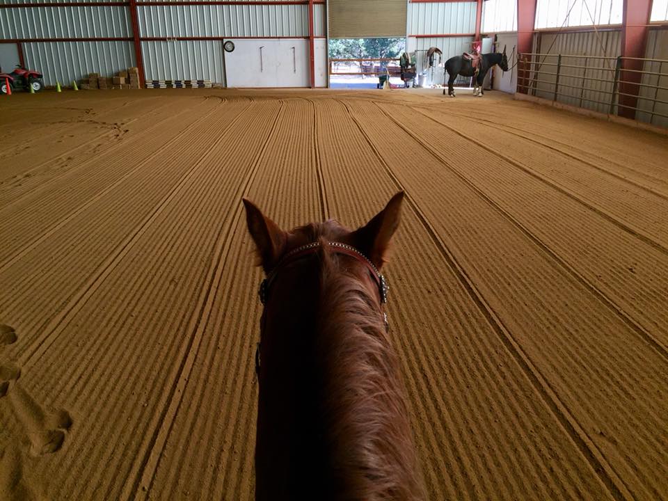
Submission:
<svg viewBox="0 0 668 501">
<path fill-rule="evenodd" d="M 4 136 L 0 498 L 253 499 L 241 197 L 354 227 L 403 189 L 388 314 L 429 498 L 668 499 L 665 137 L 497 93 L 53 99 L 42 140 Z"/>
</svg>

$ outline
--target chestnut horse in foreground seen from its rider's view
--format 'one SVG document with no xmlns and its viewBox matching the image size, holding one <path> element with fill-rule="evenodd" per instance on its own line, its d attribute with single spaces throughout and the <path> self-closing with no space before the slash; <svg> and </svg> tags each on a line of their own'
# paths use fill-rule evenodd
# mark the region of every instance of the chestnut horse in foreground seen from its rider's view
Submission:
<svg viewBox="0 0 668 501">
<path fill-rule="evenodd" d="M 403 196 L 355 231 L 330 220 L 285 232 L 244 200 L 267 272 L 257 500 L 423 498 L 379 273 Z"/>
</svg>

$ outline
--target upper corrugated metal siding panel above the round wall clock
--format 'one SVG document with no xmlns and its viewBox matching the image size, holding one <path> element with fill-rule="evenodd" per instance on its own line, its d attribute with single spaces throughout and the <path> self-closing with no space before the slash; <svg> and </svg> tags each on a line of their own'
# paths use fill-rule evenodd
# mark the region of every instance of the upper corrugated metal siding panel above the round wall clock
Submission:
<svg viewBox="0 0 668 501">
<path fill-rule="evenodd" d="M 138 6 L 143 37 L 308 36 L 305 5 Z"/>
</svg>

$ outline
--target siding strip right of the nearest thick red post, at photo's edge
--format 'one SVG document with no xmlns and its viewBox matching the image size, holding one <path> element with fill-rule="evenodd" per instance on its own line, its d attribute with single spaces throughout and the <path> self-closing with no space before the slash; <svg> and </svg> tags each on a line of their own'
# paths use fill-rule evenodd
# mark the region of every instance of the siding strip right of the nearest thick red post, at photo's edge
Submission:
<svg viewBox="0 0 668 501">
<path fill-rule="evenodd" d="M 660 59 L 666 61 L 645 61 L 643 71 L 668 74 L 668 31 L 666 30 L 650 30 L 647 40 L 647 49 L 645 57 L 648 59 Z M 660 77 L 659 75 L 643 74 L 641 84 L 660 86 L 668 88 L 668 77 Z M 664 102 L 668 102 L 668 90 L 656 89 L 651 87 L 641 87 L 640 97 L 649 97 Z M 646 110 L 646 113 L 638 111 L 636 113 L 637 120 L 642 122 L 649 122 L 661 127 L 668 127 L 668 118 L 652 115 L 661 113 L 668 116 L 668 104 L 656 103 L 650 100 L 639 99 L 637 104 L 639 109 Z"/>
</svg>

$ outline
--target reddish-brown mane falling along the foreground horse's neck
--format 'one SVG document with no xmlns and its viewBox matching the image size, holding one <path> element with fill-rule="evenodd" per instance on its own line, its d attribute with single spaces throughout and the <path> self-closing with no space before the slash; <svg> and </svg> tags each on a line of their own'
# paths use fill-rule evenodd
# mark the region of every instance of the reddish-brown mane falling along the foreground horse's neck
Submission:
<svg viewBox="0 0 668 501">
<path fill-rule="evenodd" d="M 399 361 L 378 298 L 354 274 L 349 257 L 327 245 L 320 254 L 314 358 L 329 463 L 326 492 L 332 499 L 422 499 Z"/>
</svg>

